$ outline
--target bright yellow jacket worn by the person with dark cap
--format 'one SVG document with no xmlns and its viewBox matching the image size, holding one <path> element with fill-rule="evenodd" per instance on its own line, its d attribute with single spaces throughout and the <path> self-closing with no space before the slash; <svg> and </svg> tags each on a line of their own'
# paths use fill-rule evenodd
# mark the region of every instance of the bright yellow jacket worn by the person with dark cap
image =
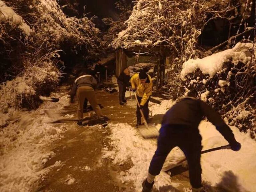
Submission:
<svg viewBox="0 0 256 192">
<path fill-rule="evenodd" d="M 139 97 L 142 97 L 140 105 L 144 105 L 147 102 L 149 96 L 152 95 L 153 83 L 151 77 L 148 75 L 146 83 L 142 85 L 142 83 L 140 83 L 139 73 L 136 73 L 131 77 L 130 82 L 132 89 L 137 87 L 136 93 Z"/>
</svg>

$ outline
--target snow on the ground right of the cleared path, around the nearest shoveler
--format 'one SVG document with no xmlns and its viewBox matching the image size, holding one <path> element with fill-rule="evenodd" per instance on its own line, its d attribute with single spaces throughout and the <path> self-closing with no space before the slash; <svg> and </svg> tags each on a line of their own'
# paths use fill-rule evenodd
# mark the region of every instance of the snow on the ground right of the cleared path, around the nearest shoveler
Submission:
<svg viewBox="0 0 256 192">
<path fill-rule="evenodd" d="M 171 107 L 173 101 L 165 100 L 159 104 L 151 104 L 153 115 L 164 114 Z M 120 173 L 120 180 L 134 182 L 136 191 L 141 191 L 141 183 L 147 177 L 149 163 L 156 150 L 156 139 L 143 139 L 133 127 L 128 124 L 111 124 L 111 145 L 113 149 L 104 148 L 103 158 L 113 160 L 114 164 L 123 165 L 131 160 L 133 166 L 126 172 Z M 159 127 L 159 126 L 158 126 Z M 199 125 L 202 135 L 203 150 L 227 145 L 228 142 L 215 129 L 210 122 L 202 121 Z M 229 191 L 253 192 L 256 189 L 256 142 L 250 138 L 250 134 L 240 133 L 238 128 L 231 127 L 233 133 L 242 144 L 240 151 L 218 150 L 202 155 L 202 179 L 212 186 L 226 188 Z M 184 158 L 179 148 L 174 148 L 166 159 L 166 164 L 175 163 Z M 166 165 L 165 164 L 165 165 Z M 165 166 L 164 165 L 164 166 Z M 170 176 L 161 172 L 155 179 L 155 187 L 164 185 L 179 186 L 173 182 Z M 184 191 L 190 191 L 184 188 Z"/>
</svg>

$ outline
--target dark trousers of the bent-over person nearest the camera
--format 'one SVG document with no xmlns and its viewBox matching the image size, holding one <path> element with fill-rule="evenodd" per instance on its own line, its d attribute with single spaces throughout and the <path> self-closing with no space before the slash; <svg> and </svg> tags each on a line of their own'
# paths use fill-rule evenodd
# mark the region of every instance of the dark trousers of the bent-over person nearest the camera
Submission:
<svg viewBox="0 0 256 192">
<path fill-rule="evenodd" d="M 193 188 L 202 187 L 202 169 L 200 164 L 202 137 L 197 130 L 193 132 L 191 127 L 182 125 L 162 127 L 158 138 L 157 150 L 150 162 L 149 173 L 151 175 L 158 175 L 167 155 L 177 146 L 187 158 L 191 186 Z"/>
</svg>

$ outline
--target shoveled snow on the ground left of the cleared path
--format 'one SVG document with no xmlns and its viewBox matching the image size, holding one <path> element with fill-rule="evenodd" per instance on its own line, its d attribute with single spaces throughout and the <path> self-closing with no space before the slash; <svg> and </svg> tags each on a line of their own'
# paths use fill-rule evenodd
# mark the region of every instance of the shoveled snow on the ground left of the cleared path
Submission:
<svg viewBox="0 0 256 192">
<path fill-rule="evenodd" d="M 60 109 L 68 105 L 68 98 L 46 105 Z M 46 105 L 36 111 L 15 111 L 8 118 L 0 116 L 1 121 L 8 122 L 0 134 L 0 191 L 31 191 L 48 171 L 44 166 L 54 153 L 45 147 L 61 139 L 68 127 L 48 124 L 49 118 L 44 115 Z M 57 161 L 54 166 L 61 165 Z"/>
</svg>

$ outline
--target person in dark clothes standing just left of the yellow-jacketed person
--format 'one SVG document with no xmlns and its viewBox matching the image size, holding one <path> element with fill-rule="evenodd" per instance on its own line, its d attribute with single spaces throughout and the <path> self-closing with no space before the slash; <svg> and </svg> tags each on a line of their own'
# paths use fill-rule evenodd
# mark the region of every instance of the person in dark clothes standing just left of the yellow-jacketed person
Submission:
<svg viewBox="0 0 256 192">
<path fill-rule="evenodd" d="M 129 68 L 126 68 L 123 72 L 120 73 L 117 78 L 118 88 L 119 88 L 119 104 L 124 105 L 127 101 L 125 100 L 126 87 L 130 86 L 130 71 Z"/>
</svg>

